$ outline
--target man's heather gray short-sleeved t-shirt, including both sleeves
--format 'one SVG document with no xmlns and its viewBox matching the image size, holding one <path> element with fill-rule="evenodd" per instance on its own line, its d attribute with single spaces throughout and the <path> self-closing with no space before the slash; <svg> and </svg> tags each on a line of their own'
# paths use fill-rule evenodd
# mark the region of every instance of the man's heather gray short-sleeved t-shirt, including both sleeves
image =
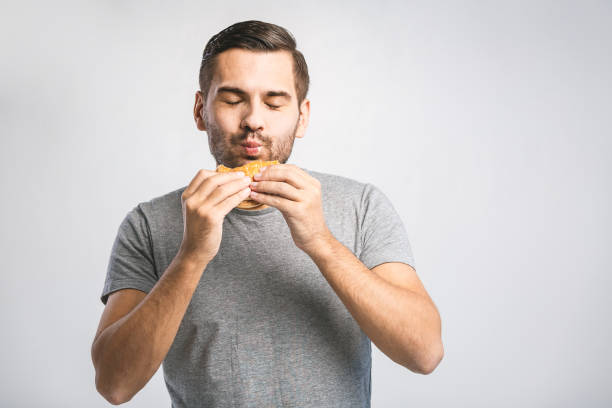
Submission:
<svg viewBox="0 0 612 408">
<path fill-rule="evenodd" d="M 303 169 L 321 182 L 325 221 L 368 268 L 414 267 L 398 213 L 375 186 Z M 101 300 L 149 292 L 183 238 L 180 188 L 119 227 Z M 174 408 L 369 407 L 371 342 L 282 214 L 234 208 L 162 364 Z"/>
</svg>

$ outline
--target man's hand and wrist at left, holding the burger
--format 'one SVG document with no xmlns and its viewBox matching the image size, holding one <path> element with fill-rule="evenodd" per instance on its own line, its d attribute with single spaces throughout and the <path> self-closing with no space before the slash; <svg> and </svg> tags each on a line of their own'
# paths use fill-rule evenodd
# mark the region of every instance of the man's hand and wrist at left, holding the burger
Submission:
<svg viewBox="0 0 612 408">
<path fill-rule="evenodd" d="M 242 172 L 198 171 L 181 195 L 182 256 L 204 264 L 215 257 L 221 245 L 223 219 L 249 197 L 250 182 Z"/>
</svg>

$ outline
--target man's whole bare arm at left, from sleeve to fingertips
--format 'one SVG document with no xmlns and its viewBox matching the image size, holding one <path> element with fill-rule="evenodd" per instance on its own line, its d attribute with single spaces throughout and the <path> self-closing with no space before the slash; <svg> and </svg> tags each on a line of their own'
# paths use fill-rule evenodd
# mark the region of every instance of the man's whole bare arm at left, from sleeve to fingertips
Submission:
<svg viewBox="0 0 612 408">
<path fill-rule="evenodd" d="M 91 357 L 96 388 L 112 404 L 129 401 L 168 354 L 200 277 L 219 250 L 223 219 L 248 197 L 250 181 L 244 173 L 200 170 L 181 197 L 183 241 L 172 263 L 141 301 L 134 298 L 140 294 L 126 294 L 126 300 L 122 291 L 111 295 L 120 297 L 113 299 L 116 305 L 107 304 L 111 317 L 103 315 Z"/>
</svg>

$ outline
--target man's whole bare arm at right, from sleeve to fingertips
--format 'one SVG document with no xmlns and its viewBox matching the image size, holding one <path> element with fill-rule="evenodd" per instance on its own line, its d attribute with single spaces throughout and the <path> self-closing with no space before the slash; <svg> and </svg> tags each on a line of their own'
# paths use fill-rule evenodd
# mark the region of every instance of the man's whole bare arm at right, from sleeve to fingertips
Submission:
<svg viewBox="0 0 612 408">
<path fill-rule="evenodd" d="M 277 208 L 295 245 L 306 252 L 363 332 L 389 358 L 429 374 L 444 354 L 437 308 L 409 265 L 387 262 L 369 270 L 331 234 L 321 185 L 292 164 L 268 166 L 251 183 L 251 198 Z"/>
</svg>

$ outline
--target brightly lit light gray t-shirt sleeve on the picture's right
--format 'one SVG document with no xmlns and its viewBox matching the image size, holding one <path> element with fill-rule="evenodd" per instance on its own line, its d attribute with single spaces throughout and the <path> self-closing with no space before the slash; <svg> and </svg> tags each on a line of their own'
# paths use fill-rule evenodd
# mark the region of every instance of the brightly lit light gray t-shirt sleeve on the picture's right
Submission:
<svg viewBox="0 0 612 408">
<path fill-rule="evenodd" d="M 361 198 L 361 262 L 372 269 L 385 262 L 415 267 L 404 224 L 391 201 L 376 186 L 366 183 Z"/>
</svg>

